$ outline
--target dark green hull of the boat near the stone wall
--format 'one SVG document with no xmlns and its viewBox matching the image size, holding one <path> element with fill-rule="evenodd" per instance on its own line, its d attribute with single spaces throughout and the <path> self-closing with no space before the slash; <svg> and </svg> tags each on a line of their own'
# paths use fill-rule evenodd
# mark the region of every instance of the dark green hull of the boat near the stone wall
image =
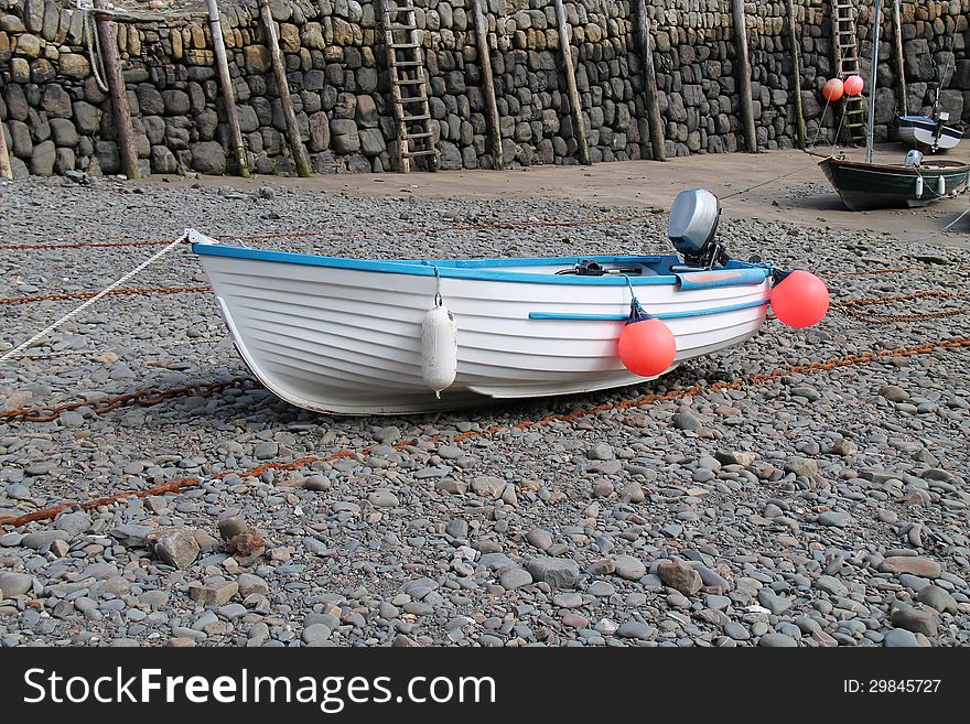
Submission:
<svg viewBox="0 0 970 724">
<path fill-rule="evenodd" d="M 907 168 L 826 159 L 819 166 L 851 210 L 918 208 L 962 194 L 970 179 L 970 165 L 956 161 Z"/>
</svg>

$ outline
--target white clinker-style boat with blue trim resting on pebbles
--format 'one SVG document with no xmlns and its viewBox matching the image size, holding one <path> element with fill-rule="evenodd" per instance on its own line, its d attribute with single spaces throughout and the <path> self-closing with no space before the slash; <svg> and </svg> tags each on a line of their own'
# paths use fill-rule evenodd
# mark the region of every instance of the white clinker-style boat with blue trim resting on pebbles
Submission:
<svg viewBox="0 0 970 724">
<path fill-rule="evenodd" d="M 342 414 L 643 382 L 617 356 L 632 292 L 673 333 L 669 371 L 754 335 L 772 287 L 770 266 L 728 260 L 719 245 L 704 268 L 675 255 L 370 261 L 187 239 L 252 374 L 292 404 Z M 436 294 L 457 326 L 454 381 L 440 399 L 422 374 Z"/>
</svg>

